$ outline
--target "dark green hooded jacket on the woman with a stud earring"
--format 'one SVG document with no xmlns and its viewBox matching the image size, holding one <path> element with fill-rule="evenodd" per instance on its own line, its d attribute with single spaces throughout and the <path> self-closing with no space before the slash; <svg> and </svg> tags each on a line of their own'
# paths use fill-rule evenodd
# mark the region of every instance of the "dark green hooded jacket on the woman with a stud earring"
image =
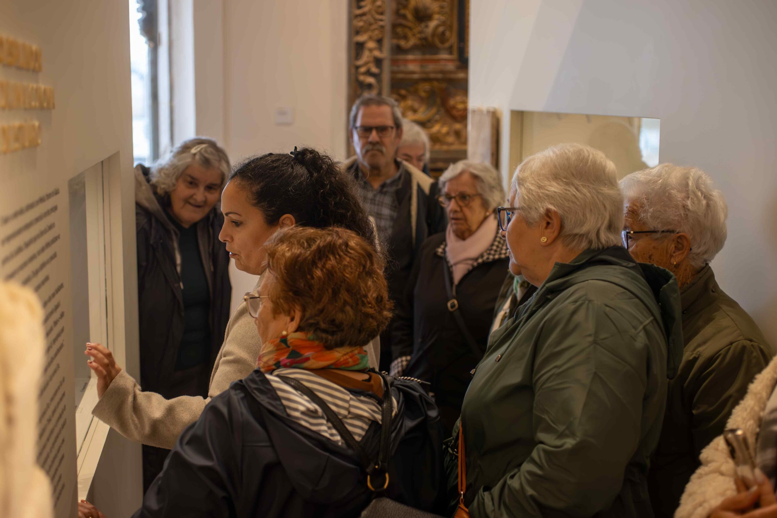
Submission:
<svg viewBox="0 0 777 518">
<path fill-rule="evenodd" d="M 671 273 L 621 247 L 556 263 L 493 332 L 465 396 L 471 516 L 652 516 L 649 459 L 681 343 Z"/>
</svg>

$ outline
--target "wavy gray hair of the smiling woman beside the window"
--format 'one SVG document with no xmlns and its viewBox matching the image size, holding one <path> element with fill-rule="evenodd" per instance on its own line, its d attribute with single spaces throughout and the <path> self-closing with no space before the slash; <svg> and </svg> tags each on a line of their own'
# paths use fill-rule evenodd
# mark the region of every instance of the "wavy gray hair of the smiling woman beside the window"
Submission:
<svg viewBox="0 0 777 518">
<path fill-rule="evenodd" d="M 183 141 L 153 165 L 150 183 L 157 196 L 165 197 L 172 193 L 180 176 L 193 163 L 205 169 L 218 169 L 221 172 L 221 186 L 224 186 L 230 169 L 226 152 L 212 138 L 194 137 Z"/>
</svg>

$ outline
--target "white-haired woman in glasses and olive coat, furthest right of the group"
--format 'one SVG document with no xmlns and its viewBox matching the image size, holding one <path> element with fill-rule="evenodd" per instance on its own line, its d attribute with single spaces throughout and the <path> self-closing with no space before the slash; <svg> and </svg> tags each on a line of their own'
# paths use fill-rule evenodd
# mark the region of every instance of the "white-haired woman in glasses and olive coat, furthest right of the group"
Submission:
<svg viewBox="0 0 777 518">
<path fill-rule="evenodd" d="M 623 245 L 677 277 L 683 357 L 650 464 L 656 516 L 672 516 L 699 454 L 773 356 L 758 325 L 720 289 L 709 262 L 726 242 L 726 202 L 700 169 L 661 164 L 621 180 Z M 733 490 L 733 481 L 731 482 Z"/>
</svg>

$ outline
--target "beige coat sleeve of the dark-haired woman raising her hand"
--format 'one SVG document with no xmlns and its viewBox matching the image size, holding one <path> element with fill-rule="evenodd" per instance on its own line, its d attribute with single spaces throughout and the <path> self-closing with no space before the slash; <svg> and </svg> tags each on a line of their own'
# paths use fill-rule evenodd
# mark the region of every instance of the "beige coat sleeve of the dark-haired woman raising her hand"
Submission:
<svg viewBox="0 0 777 518">
<path fill-rule="evenodd" d="M 211 398 L 242 380 L 256 368 L 261 348 L 259 332 L 246 303 L 229 319 L 224 343 L 211 373 L 208 398 L 181 396 L 166 399 L 155 392 L 143 392 L 124 370 L 111 382 L 92 415 L 129 440 L 171 449 L 186 426 L 199 419 Z"/>
</svg>

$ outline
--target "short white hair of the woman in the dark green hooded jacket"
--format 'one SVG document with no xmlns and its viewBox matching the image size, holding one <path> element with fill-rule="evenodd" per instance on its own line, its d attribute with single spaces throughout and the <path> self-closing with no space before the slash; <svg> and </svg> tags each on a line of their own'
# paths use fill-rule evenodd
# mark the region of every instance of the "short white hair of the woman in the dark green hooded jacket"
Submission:
<svg viewBox="0 0 777 518">
<path fill-rule="evenodd" d="M 621 243 L 623 195 L 604 153 L 582 144 L 558 144 L 526 158 L 510 193 L 527 224 L 546 210 L 561 218 L 559 237 L 570 249 L 600 250 Z"/>
</svg>

